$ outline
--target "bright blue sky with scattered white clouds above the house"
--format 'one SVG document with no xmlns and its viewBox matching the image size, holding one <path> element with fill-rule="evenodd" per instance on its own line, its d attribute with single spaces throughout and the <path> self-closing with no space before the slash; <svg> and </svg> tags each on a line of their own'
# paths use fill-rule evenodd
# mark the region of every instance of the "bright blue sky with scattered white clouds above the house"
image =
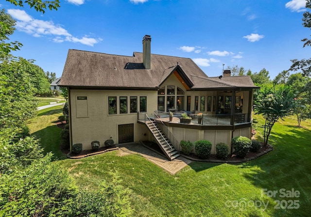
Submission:
<svg viewBox="0 0 311 217">
<path fill-rule="evenodd" d="M 142 38 L 152 37 L 151 52 L 187 57 L 209 77 L 223 64 L 271 78 L 310 58 L 301 39 L 305 0 L 61 0 L 45 14 L 1 2 L 17 20 L 12 41 L 23 44 L 15 56 L 35 60 L 61 77 L 68 49 L 132 56 Z"/>
</svg>

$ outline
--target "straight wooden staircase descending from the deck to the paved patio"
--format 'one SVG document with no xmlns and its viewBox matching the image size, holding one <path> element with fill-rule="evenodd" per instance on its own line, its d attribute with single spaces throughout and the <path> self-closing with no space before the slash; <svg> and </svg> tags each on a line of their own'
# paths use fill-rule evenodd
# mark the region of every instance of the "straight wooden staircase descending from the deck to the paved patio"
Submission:
<svg viewBox="0 0 311 217">
<path fill-rule="evenodd" d="M 163 131 L 159 128 L 155 120 L 149 119 L 145 122 L 149 131 L 155 137 L 156 143 L 159 145 L 165 156 L 173 160 L 179 156 L 178 151 L 174 148 L 172 142 L 166 137 Z"/>
</svg>

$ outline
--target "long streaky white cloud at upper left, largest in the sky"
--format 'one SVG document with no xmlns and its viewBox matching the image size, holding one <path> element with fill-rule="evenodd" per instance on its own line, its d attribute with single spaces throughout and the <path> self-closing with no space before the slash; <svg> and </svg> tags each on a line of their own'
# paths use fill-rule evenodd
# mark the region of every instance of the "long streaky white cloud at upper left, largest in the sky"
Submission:
<svg viewBox="0 0 311 217">
<path fill-rule="evenodd" d="M 24 31 L 27 34 L 31 34 L 34 37 L 41 37 L 44 35 L 56 36 L 53 38 L 53 42 L 61 43 L 66 41 L 81 43 L 87 46 L 94 46 L 101 41 L 101 39 L 89 38 L 87 36 L 81 39 L 73 37 L 67 30 L 62 28 L 59 24 L 54 24 L 52 21 L 44 21 L 34 19 L 29 16 L 25 11 L 18 9 L 9 9 L 8 13 L 17 20 L 16 28 L 19 31 Z"/>
</svg>

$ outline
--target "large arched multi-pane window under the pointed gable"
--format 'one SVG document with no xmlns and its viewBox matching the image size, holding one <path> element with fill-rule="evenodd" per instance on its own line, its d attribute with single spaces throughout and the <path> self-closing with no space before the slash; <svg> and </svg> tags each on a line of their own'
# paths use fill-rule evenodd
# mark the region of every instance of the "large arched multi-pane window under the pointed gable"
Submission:
<svg viewBox="0 0 311 217">
<path fill-rule="evenodd" d="M 161 87 L 157 95 L 157 109 L 159 111 L 184 110 L 185 92 L 180 87 L 174 85 Z"/>
</svg>

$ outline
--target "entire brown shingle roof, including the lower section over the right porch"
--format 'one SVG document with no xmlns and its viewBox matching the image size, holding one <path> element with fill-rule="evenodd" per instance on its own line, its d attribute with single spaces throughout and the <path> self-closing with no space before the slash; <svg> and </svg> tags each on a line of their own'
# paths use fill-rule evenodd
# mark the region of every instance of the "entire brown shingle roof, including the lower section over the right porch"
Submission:
<svg viewBox="0 0 311 217">
<path fill-rule="evenodd" d="M 156 89 L 176 68 L 194 84 L 191 89 L 256 88 L 250 77 L 209 78 L 190 58 L 151 54 L 151 69 L 145 69 L 139 52 L 119 56 L 73 49 L 68 51 L 60 86 Z"/>
</svg>

